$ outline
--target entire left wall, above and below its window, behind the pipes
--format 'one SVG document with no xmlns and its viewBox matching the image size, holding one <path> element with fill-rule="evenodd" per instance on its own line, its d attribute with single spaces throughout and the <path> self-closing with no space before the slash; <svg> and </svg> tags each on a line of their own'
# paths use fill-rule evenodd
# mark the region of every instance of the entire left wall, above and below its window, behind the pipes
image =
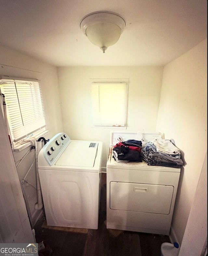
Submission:
<svg viewBox="0 0 208 256">
<path fill-rule="evenodd" d="M 40 79 L 46 111 L 46 129 L 50 130 L 46 138 L 51 138 L 56 133 L 63 130 L 56 67 L 0 46 L 0 75 Z M 4 150 L 3 145 L 1 147 L 1 151 L 2 150 Z M 35 150 L 32 149 L 24 158 L 24 155 L 29 150 L 30 147 L 27 147 L 21 152 L 13 152 L 13 155 L 16 166 L 19 165 L 17 172 L 20 181 L 25 178 L 30 184 L 24 182 L 23 189 L 28 200 L 29 209 L 27 209 L 30 211 L 29 217 L 30 220 L 32 218 L 31 222 L 33 225 L 40 215 L 40 211 L 34 209 L 34 204 L 37 202 L 37 192 L 34 189 L 34 187 L 36 188 Z M 23 160 L 20 162 L 22 158 Z M 28 172 L 31 165 L 32 168 Z"/>
</svg>

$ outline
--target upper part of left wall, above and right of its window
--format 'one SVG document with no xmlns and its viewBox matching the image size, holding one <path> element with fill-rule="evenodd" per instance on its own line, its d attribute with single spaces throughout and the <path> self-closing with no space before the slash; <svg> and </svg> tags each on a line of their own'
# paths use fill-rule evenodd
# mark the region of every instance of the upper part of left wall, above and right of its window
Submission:
<svg viewBox="0 0 208 256">
<path fill-rule="evenodd" d="M 62 130 L 57 68 L 0 46 L 0 75 L 41 80 L 47 128 L 51 134 Z"/>
</svg>

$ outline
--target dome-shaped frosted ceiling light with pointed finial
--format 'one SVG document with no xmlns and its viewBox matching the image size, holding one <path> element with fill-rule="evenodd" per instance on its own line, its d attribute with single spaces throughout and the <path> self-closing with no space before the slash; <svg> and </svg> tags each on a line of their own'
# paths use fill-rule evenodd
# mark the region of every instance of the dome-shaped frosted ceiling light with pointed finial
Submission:
<svg viewBox="0 0 208 256">
<path fill-rule="evenodd" d="M 80 22 L 80 28 L 91 43 L 99 46 L 105 53 L 120 38 L 126 23 L 113 12 L 98 11 L 86 15 Z"/>
</svg>

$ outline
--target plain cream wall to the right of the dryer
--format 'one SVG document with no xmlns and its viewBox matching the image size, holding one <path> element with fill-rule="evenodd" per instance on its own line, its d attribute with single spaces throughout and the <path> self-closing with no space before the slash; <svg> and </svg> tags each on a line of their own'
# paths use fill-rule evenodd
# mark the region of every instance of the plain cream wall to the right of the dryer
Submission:
<svg viewBox="0 0 208 256">
<path fill-rule="evenodd" d="M 207 150 L 207 39 L 164 67 L 157 129 L 185 160 L 172 221 L 181 243 Z"/>
</svg>

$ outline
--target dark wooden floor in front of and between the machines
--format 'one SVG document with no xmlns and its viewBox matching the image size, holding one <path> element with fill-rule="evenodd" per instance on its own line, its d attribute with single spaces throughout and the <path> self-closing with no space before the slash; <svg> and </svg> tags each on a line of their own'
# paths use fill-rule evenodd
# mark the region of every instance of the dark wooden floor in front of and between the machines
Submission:
<svg viewBox="0 0 208 256">
<path fill-rule="evenodd" d="M 36 242 L 42 240 L 52 249 L 52 256 L 160 256 L 160 247 L 170 242 L 166 235 L 123 231 L 117 237 L 106 228 L 106 174 L 102 173 L 98 230 L 87 234 L 42 228 L 35 225 Z"/>
</svg>

